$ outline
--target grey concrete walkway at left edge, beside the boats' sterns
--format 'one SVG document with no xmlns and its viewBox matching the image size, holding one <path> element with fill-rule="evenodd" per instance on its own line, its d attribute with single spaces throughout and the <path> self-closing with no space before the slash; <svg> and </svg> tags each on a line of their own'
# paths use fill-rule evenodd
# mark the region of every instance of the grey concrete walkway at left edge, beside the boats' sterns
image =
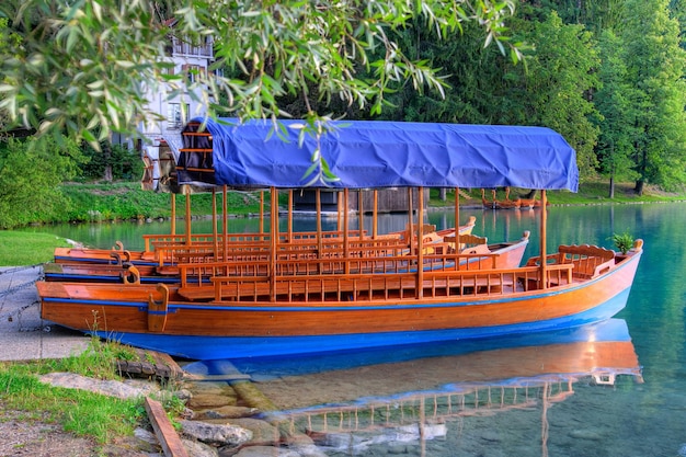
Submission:
<svg viewBox="0 0 686 457">
<path fill-rule="evenodd" d="M 42 265 L 0 267 L 0 361 L 61 358 L 88 346 L 83 333 L 41 319 L 42 276 Z"/>
</svg>

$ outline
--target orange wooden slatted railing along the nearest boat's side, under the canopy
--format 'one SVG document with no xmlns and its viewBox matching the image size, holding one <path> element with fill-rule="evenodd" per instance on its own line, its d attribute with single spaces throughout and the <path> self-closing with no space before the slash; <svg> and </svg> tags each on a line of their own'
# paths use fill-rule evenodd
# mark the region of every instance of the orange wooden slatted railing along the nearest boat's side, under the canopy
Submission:
<svg viewBox="0 0 686 457">
<path fill-rule="evenodd" d="M 311 262 L 301 262 L 294 260 L 277 264 L 275 275 L 270 274 L 270 261 L 179 265 L 182 277 L 179 294 L 188 300 L 306 302 L 502 296 L 541 288 L 537 266 L 439 270 L 421 274 L 399 269 L 379 274 L 362 270 L 339 272 L 338 269 L 346 264 L 354 265 L 345 259 L 329 261 L 329 273 L 317 272 Z M 547 286 L 570 284 L 572 267 L 572 264 L 551 265 L 546 271 Z M 197 275 L 195 279 L 194 275 Z"/>
</svg>

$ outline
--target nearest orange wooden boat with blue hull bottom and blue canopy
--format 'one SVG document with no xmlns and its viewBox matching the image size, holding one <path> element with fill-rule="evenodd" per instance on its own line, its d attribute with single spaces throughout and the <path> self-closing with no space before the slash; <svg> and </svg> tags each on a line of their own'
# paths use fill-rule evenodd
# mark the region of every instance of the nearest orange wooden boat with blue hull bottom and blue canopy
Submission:
<svg viewBox="0 0 686 457">
<path fill-rule="evenodd" d="M 339 188 L 344 201 L 350 188 L 538 186 L 544 202 L 546 190 L 578 188 L 574 150 L 547 128 L 351 122 L 299 142 L 301 124 L 283 125 L 289 141 L 270 137 L 271 124 L 261 121 L 207 122 L 206 130 L 190 123 L 179 180 L 224 191 L 266 186 L 278 214 L 279 191 L 302 184 L 318 150 L 339 180 L 317 185 Z M 225 261 L 219 254 L 237 247 L 222 242 L 216 261 L 176 264 L 178 285 L 39 282 L 42 317 L 198 359 L 529 333 L 613 317 L 626 306 L 642 254 L 641 240 L 626 255 L 591 245 L 549 254 L 544 212 L 539 255 L 519 267 L 464 270 L 462 259 L 482 254 L 427 253 L 421 224 L 411 224 L 415 249 L 400 253 L 397 239 L 374 229 L 365 238 L 362 227 L 351 236 L 347 212 L 341 218 L 331 243 L 321 226 L 311 239 L 283 241 L 273 220 L 266 258 Z M 432 263 L 442 267 L 425 267 Z"/>
</svg>

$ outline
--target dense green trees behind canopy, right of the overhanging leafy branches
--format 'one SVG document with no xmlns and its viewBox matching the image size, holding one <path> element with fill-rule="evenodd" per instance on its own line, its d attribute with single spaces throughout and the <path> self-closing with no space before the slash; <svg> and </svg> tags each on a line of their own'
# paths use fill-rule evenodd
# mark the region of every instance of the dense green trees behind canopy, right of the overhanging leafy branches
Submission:
<svg viewBox="0 0 686 457">
<path fill-rule="evenodd" d="M 522 1 L 508 22 L 525 65 L 483 48 L 473 27 L 459 41 L 403 32 L 416 55 L 442 68 L 445 98 L 399 88 L 396 119 L 540 125 L 576 149 L 582 178 L 686 183 L 686 2 Z"/>
</svg>

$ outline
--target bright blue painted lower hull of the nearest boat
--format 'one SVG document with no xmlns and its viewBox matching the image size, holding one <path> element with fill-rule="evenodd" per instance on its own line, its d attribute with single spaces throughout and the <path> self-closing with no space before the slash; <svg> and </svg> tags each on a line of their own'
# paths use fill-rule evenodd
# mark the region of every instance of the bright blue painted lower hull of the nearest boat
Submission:
<svg viewBox="0 0 686 457">
<path fill-rule="evenodd" d="M 98 332 L 98 334 L 137 347 L 201 361 L 308 354 L 573 328 L 611 318 L 625 308 L 630 288 L 627 288 L 606 302 L 573 316 L 508 325 L 312 336 L 191 336 L 148 333 L 113 334 L 112 332 Z"/>
</svg>

